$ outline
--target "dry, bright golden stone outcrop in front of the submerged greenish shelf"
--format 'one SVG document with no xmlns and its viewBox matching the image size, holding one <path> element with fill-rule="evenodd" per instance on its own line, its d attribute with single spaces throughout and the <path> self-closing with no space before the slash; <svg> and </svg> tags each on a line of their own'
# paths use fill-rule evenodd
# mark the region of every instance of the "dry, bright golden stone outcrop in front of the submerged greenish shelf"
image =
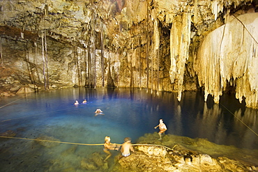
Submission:
<svg viewBox="0 0 258 172">
<path fill-rule="evenodd" d="M 139 148 L 149 150 L 149 148 Z M 149 146 L 148 146 L 149 147 Z M 154 148 L 153 148 L 154 147 Z M 132 153 L 119 159 L 119 171 L 256 171 L 257 167 L 244 164 L 227 157 L 214 159 L 206 154 L 187 150 L 174 150 L 169 153 L 160 146 L 153 150 Z M 162 153 L 160 153 L 162 152 Z M 164 155 L 164 153 L 166 153 Z"/>
</svg>

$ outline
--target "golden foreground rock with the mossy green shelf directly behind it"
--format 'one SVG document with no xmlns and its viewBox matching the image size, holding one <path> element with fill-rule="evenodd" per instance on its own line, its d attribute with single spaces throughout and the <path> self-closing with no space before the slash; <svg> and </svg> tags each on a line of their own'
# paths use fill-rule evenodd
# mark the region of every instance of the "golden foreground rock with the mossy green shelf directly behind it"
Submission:
<svg viewBox="0 0 258 172">
<path fill-rule="evenodd" d="M 204 139 L 187 139 L 168 134 L 162 139 L 162 145 L 157 145 L 153 135 L 146 134 L 139 138 L 139 143 L 134 146 L 135 153 L 121 157 L 120 166 L 116 166 L 116 170 L 120 168 L 119 171 L 255 171 L 257 168 L 241 160 L 222 156 L 217 158 L 218 153 L 215 157 L 204 153 L 205 147 L 214 151 L 217 151 L 218 147 L 218 150 L 225 151 L 222 146 Z M 236 149 L 229 148 L 227 146 L 231 153 Z"/>
</svg>

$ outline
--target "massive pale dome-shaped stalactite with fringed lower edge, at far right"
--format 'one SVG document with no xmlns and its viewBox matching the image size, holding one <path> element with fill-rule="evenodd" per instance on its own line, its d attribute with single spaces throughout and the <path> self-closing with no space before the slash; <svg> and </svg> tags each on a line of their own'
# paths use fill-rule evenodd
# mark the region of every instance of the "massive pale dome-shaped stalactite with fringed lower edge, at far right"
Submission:
<svg viewBox="0 0 258 172">
<path fill-rule="evenodd" d="M 241 22 L 240 22 L 241 21 Z M 227 82 L 234 79 L 236 98 L 247 107 L 258 108 L 258 14 L 228 16 L 226 24 L 209 33 L 199 47 L 194 63 L 199 85 L 220 100 Z"/>
</svg>

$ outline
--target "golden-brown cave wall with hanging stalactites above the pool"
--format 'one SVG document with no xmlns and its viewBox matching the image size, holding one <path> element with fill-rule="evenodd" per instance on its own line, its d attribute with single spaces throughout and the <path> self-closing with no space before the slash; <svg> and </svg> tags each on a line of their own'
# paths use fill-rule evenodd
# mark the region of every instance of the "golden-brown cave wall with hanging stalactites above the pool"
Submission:
<svg viewBox="0 0 258 172">
<path fill-rule="evenodd" d="M 1 93 L 24 87 L 137 87 L 177 92 L 180 101 L 183 91 L 204 88 L 205 100 L 211 94 L 218 102 L 231 84 L 236 98 L 245 97 L 248 107 L 258 108 L 257 75 L 251 71 L 255 60 L 248 63 L 250 58 L 242 54 L 238 62 L 247 61 L 245 71 L 232 76 L 224 72 L 231 68 L 209 68 L 220 54 L 209 61 L 202 54 L 209 33 L 218 28 L 227 46 L 214 42 L 213 47 L 225 52 L 220 58 L 224 67 L 225 58 L 236 58 L 228 53 L 233 45 L 227 36 L 243 33 L 234 40 L 238 45 L 253 41 L 253 48 L 243 46 L 241 51 L 255 59 L 257 39 L 245 36 L 249 33 L 241 22 L 235 19 L 234 34 L 221 28 L 227 28 L 230 17 L 256 10 L 257 2 L 251 0 L 0 1 Z M 252 27 L 255 31 L 256 25 Z M 243 86 L 243 79 L 250 86 Z"/>
</svg>

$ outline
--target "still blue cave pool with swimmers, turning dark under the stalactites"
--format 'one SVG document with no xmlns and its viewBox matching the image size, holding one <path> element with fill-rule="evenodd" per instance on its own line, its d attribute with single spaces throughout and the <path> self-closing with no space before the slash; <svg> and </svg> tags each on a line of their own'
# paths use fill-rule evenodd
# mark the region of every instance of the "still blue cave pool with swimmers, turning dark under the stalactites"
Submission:
<svg viewBox="0 0 258 172">
<path fill-rule="evenodd" d="M 160 118 L 167 125 L 166 134 L 257 151 L 258 110 L 245 108 L 234 95 L 223 95 L 220 104 L 211 97 L 204 102 L 202 93 L 183 93 L 181 102 L 176 96 L 146 89 L 66 88 L 1 97 L 0 135 L 10 130 L 19 138 L 45 136 L 68 143 L 47 148 L 36 141 L 0 137 L 0 171 L 58 171 L 70 166 L 80 171 L 84 157 L 94 152 L 106 156 L 103 146 L 71 149 L 69 143 L 104 143 L 105 136 L 112 143 L 123 143 L 130 136 L 135 143 L 146 133 L 158 132 L 153 127 Z M 104 115 L 96 116 L 97 108 Z"/>
</svg>

